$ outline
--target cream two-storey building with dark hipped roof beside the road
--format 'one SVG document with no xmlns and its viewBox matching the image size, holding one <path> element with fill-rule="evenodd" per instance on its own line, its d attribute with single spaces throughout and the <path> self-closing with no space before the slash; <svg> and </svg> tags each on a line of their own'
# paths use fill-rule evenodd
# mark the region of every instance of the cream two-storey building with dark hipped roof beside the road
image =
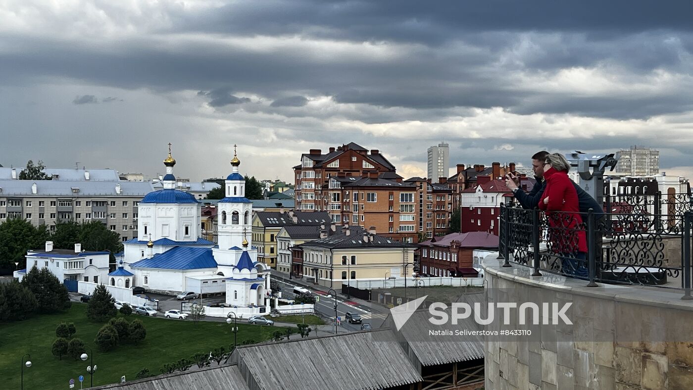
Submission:
<svg viewBox="0 0 693 390">
<path fill-rule="evenodd" d="M 416 245 L 378 236 L 362 227 L 343 227 L 334 235 L 304 242 L 303 274 L 319 285 L 341 287 L 352 280 L 399 278 L 413 272 Z"/>
</svg>

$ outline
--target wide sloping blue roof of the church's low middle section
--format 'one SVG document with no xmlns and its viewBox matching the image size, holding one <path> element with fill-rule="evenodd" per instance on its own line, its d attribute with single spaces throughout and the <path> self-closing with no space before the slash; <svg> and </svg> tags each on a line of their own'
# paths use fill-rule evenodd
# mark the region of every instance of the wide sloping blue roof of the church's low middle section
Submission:
<svg viewBox="0 0 693 390">
<path fill-rule="evenodd" d="M 133 268 L 203 269 L 216 268 L 217 262 L 209 248 L 175 247 L 152 258 L 139 260 Z"/>
</svg>

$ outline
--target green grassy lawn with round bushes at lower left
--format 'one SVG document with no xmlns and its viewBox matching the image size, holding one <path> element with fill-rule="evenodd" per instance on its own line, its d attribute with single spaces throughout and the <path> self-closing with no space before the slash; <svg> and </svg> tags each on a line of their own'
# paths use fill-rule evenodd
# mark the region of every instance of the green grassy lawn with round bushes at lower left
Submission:
<svg viewBox="0 0 693 390">
<path fill-rule="evenodd" d="M 67 389 L 70 378 L 74 378 L 75 388 L 79 389 L 79 375 L 84 375 L 84 387 L 89 387 L 89 360 L 75 361 L 69 357 L 58 360 L 51 354 L 55 326 L 63 321 L 75 323 L 77 333 L 74 337 L 94 349 L 94 364 L 97 366 L 94 386 L 120 382 L 122 375 L 126 380 L 134 380 L 143 368 L 149 369 L 152 375 L 159 375 L 159 369 L 166 363 L 234 344 L 234 333 L 225 322 L 200 321 L 195 328 L 191 320 L 132 314 L 128 320 L 141 319 L 147 329 L 146 339 L 138 345 L 121 344 L 113 351 L 102 353 L 94 345 L 94 338 L 103 323 L 89 321 L 86 309 L 85 303 L 72 303 L 72 308 L 62 314 L 37 315 L 26 321 L 0 323 L 0 388 L 19 389 L 20 360 L 25 353 L 31 354 L 33 363 L 30 368 L 24 368 L 25 389 Z M 238 328 L 238 344 L 245 339 L 261 342 L 270 339 L 275 331 L 283 330 L 240 322 Z"/>
</svg>

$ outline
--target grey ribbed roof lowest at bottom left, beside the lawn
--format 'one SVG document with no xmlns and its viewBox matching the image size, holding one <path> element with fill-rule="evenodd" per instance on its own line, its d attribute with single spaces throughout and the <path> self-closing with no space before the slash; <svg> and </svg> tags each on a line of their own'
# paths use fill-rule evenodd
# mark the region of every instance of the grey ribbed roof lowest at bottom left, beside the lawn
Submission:
<svg viewBox="0 0 693 390">
<path fill-rule="evenodd" d="M 236 364 L 212 366 L 201 370 L 189 370 L 159 375 L 125 383 L 107 384 L 94 389 L 123 390 L 249 390 Z"/>
</svg>

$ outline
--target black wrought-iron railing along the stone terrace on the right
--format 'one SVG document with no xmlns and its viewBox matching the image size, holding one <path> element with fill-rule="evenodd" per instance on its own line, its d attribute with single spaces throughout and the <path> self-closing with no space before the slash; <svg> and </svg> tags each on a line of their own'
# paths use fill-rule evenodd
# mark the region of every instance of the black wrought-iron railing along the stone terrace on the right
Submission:
<svg viewBox="0 0 693 390">
<path fill-rule="evenodd" d="M 610 195 L 606 213 L 500 210 L 499 258 L 504 267 L 600 283 L 691 289 L 693 198 L 689 194 Z M 680 280 L 680 283 L 678 282 Z"/>
</svg>

